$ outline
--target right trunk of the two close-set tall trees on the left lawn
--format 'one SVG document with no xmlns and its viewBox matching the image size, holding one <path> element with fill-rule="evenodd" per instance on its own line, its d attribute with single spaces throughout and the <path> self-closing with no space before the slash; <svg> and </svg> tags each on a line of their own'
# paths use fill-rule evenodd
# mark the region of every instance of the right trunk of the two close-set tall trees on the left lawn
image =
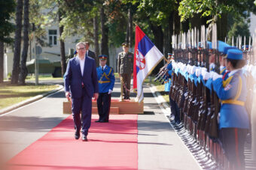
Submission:
<svg viewBox="0 0 256 170">
<path fill-rule="evenodd" d="M 23 53 L 21 55 L 20 63 L 20 77 L 19 84 L 25 85 L 25 79 L 28 75 L 26 68 L 26 58 L 29 49 L 29 0 L 24 0 L 24 31 L 23 31 Z"/>
</svg>

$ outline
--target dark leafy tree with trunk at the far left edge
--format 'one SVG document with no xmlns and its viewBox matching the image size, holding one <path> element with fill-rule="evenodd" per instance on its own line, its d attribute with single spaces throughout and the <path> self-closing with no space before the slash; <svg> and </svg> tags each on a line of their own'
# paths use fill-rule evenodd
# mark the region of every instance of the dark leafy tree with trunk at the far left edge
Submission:
<svg viewBox="0 0 256 170">
<path fill-rule="evenodd" d="M 0 83 L 4 81 L 4 43 L 11 43 L 11 32 L 14 25 L 10 22 L 11 13 L 15 10 L 15 1 L 0 1 Z"/>
</svg>

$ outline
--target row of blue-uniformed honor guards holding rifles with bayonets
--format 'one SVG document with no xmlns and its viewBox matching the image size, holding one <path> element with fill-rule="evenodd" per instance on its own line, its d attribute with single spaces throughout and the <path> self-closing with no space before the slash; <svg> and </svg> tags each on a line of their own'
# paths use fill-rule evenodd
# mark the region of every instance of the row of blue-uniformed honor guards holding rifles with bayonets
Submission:
<svg viewBox="0 0 256 170">
<path fill-rule="evenodd" d="M 250 128 L 245 106 L 251 104 L 246 81 L 251 74 L 256 82 L 256 67 L 245 70 L 236 46 L 218 41 L 212 49 L 211 42 L 206 44 L 204 49 L 174 49 L 175 61 L 160 69 L 172 79 L 170 120 L 203 169 L 245 169 Z"/>
</svg>

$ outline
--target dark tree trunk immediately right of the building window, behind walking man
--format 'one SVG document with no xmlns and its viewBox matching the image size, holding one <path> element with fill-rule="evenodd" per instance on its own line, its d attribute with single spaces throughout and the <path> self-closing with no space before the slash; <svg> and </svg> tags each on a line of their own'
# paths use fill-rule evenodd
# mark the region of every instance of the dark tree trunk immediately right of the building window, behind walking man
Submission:
<svg viewBox="0 0 256 170">
<path fill-rule="evenodd" d="M 61 12 L 59 11 L 59 22 L 61 21 Z M 66 54 L 65 54 L 65 43 L 64 43 L 64 40 L 62 40 L 62 33 L 64 31 L 64 26 L 63 25 L 60 25 L 59 26 L 59 45 L 60 45 L 60 58 L 61 58 L 61 61 L 60 61 L 60 64 L 61 64 L 61 75 L 64 76 L 65 72 L 66 72 L 66 67 L 67 67 L 67 64 L 66 64 Z"/>
</svg>

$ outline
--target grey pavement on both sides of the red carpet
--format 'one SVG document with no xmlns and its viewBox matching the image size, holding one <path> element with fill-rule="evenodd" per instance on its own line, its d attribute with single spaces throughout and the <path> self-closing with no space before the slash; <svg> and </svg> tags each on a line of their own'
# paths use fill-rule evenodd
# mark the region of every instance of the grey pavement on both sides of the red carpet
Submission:
<svg viewBox="0 0 256 170">
<path fill-rule="evenodd" d="M 200 169 L 197 161 L 172 129 L 165 101 L 154 97 L 154 88 L 144 85 L 145 114 L 138 116 L 138 169 Z M 113 98 L 120 97 L 117 79 Z M 131 97 L 134 99 L 135 94 Z M 64 91 L 0 115 L 0 151 L 3 161 L 23 151 L 69 115 L 62 114 Z M 0 156 L 1 156 L 0 155 Z M 1 158 L 0 158 L 1 159 Z"/>
</svg>

